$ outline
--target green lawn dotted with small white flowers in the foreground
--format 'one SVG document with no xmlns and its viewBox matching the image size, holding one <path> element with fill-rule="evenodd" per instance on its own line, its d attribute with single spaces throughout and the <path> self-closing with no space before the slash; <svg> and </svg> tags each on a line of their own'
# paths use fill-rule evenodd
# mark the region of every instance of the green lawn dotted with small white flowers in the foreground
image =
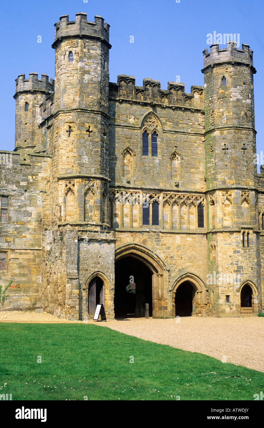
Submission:
<svg viewBox="0 0 264 428">
<path fill-rule="evenodd" d="M 253 400 L 264 390 L 264 373 L 91 324 L 0 323 L 0 349 L 0 394 L 13 400 Z"/>
</svg>

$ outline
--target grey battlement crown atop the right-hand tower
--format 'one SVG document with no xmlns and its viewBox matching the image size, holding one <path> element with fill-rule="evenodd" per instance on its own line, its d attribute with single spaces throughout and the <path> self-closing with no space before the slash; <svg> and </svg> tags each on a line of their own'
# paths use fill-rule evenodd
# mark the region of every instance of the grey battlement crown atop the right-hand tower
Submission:
<svg viewBox="0 0 264 428">
<path fill-rule="evenodd" d="M 244 64 L 253 65 L 253 51 L 249 45 L 242 44 L 242 49 L 237 49 L 237 43 L 229 41 L 226 48 L 219 49 L 218 44 L 210 46 L 210 53 L 208 49 L 203 51 L 204 56 L 204 69 L 208 65 L 216 64 L 219 62 L 243 62 Z M 203 70 L 202 70 L 203 71 Z"/>
</svg>

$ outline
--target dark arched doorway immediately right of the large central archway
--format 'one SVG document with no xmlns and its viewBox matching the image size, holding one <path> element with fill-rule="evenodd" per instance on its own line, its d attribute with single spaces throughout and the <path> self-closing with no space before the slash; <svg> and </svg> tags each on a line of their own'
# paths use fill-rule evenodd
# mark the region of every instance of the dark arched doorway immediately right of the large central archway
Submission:
<svg viewBox="0 0 264 428">
<path fill-rule="evenodd" d="M 182 282 L 175 293 L 175 315 L 180 317 L 190 317 L 193 313 L 193 299 L 195 298 L 195 289 L 188 282 Z"/>
</svg>

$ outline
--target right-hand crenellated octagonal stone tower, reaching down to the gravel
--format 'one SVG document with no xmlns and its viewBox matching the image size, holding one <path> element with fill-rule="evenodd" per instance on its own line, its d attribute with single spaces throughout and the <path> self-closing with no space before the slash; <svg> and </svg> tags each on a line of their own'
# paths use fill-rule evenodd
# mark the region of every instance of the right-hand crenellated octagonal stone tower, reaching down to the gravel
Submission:
<svg viewBox="0 0 264 428">
<path fill-rule="evenodd" d="M 259 281 L 259 267 L 255 264 L 257 167 L 253 162 L 256 152 L 253 74 L 256 70 L 249 45 L 237 49 L 235 42 L 228 42 L 225 49 L 219 49 L 219 45 L 211 45 L 210 49 L 210 53 L 208 49 L 203 51 L 202 69 L 209 271 L 231 276 L 232 282 L 231 286 L 214 284 L 217 294 L 214 302 L 221 315 L 228 296 L 233 302 L 230 312 L 239 307 L 236 292 L 243 278 L 254 271 L 256 284 Z"/>
</svg>

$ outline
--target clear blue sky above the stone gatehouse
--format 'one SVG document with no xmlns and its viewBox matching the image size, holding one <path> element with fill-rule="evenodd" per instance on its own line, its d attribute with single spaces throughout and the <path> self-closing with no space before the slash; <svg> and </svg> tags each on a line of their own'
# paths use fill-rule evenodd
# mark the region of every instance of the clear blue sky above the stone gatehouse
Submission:
<svg viewBox="0 0 264 428">
<path fill-rule="evenodd" d="M 254 51 L 255 128 L 257 152 L 264 152 L 264 1 L 263 0 L 45 0 L 3 2 L 0 35 L 2 51 L 1 150 L 15 146 L 15 79 L 18 74 L 38 72 L 54 77 L 54 27 L 61 15 L 75 20 L 86 12 L 88 21 L 101 15 L 110 24 L 110 81 L 129 74 L 142 86 L 144 77 L 168 81 L 180 76 L 185 92 L 203 86 L 202 51 L 208 33 L 239 33 L 240 47 Z M 42 43 L 37 37 L 42 36 Z M 134 43 L 130 43 L 134 36 Z M 222 48 L 223 46 L 220 46 Z M 263 162 L 264 163 L 264 162 Z M 258 166 L 259 170 L 259 166 Z"/>
</svg>

